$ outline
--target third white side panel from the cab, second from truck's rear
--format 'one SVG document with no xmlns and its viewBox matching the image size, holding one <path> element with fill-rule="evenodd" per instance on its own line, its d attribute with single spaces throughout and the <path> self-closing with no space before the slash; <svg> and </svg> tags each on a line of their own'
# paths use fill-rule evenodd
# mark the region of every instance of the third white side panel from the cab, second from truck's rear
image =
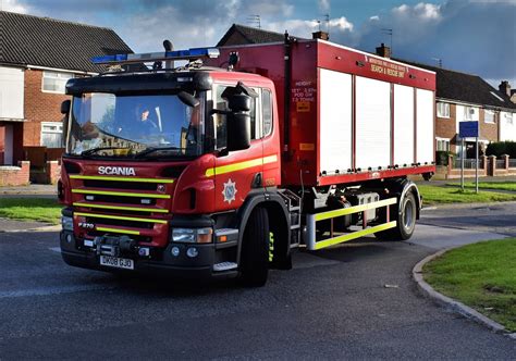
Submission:
<svg viewBox="0 0 516 361">
<path fill-rule="evenodd" d="M 410 166 L 414 158 L 414 88 L 394 85 L 394 164 Z"/>
</svg>

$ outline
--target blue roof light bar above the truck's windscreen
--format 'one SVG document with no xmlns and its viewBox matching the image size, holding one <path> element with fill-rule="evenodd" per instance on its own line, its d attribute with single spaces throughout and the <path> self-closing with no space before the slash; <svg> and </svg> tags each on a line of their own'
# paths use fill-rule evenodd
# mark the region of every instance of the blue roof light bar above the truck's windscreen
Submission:
<svg viewBox="0 0 516 361">
<path fill-rule="evenodd" d="M 186 50 L 173 50 L 161 52 L 147 52 L 139 54 L 115 54 L 91 58 L 94 64 L 128 64 L 145 63 L 163 60 L 192 60 L 199 58 L 219 58 L 219 49 L 193 48 Z"/>
</svg>

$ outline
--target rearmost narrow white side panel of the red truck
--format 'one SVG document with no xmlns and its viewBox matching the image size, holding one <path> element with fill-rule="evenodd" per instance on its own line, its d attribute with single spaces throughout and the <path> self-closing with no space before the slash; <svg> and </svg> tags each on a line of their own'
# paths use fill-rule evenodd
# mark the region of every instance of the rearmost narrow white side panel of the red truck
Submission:
<svg viewBox="0 0 516 361">
<path fill-rule="evenodd" d="M 420 165 L 431 164 L 434 158 L 433 151 L 433 92 L 430 90 L 416 90 L 417 99 L 417 154 L 416 160 Z"/>
</svg>

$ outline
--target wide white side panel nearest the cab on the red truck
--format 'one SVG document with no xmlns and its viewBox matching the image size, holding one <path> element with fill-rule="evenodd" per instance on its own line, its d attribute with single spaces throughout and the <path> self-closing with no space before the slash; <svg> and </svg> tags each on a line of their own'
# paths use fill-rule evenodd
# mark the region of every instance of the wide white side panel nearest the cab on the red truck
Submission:
<svg viewBox="0 0 516 361">
<path fill-rule="evenodd" d="M 352 163 L 352 76 L 320 70 L 320 170 L 346 172 Z"/>
</svg>

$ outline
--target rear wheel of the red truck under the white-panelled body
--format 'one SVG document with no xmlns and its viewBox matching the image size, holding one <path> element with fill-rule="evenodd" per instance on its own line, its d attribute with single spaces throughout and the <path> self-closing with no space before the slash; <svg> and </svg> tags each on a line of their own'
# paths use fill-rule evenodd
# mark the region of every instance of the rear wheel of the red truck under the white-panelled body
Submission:
<svg viewBox="0 0 516 361">
<path fill-rule="evenodd" d="M 401 212 L 398 209 L 401 208 Z M 411 191 L 407 192 L 394 208 L 397 214 L 397 224 L 394 228 L 378 232 L 374 236 L 381 240 L 406 240 L 414 234 L 416 227 L 417 203 L 416 197 Z M 392 213 L 391 213 L 392 214 Z"/>
</svg>

